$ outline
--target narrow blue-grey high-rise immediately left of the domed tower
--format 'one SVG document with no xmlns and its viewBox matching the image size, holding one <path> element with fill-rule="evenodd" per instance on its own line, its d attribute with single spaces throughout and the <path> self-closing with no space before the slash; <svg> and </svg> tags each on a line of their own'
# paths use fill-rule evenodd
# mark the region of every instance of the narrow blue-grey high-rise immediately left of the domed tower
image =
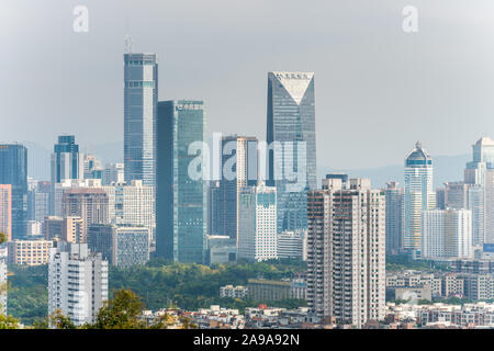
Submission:
<svg viewBox="0 0 494 351">
<path fill-rule="evenodd" d="M 403 249 L 404 191 L 396 182 L 389 182 L 386 197 L 386 253 L 397 254 Z"/>
</svg>

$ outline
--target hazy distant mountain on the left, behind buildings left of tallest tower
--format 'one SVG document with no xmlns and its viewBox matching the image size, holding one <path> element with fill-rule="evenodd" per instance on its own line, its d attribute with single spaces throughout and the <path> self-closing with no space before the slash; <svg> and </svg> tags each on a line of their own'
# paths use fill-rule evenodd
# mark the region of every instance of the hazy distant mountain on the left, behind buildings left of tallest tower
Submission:
<svg viewBox="0 0 494 351">
<path fill-rule="evenodd" d="M 37 180 L 49 180 L 52 149 L 31 141 L 23 141 L 27 147 L 27 174 Z M 102 162 L 123 162 L 123 141 L 97 145 L 91 148 L 81 148 L 82 152 L 93 154 Z"/>
</svg>

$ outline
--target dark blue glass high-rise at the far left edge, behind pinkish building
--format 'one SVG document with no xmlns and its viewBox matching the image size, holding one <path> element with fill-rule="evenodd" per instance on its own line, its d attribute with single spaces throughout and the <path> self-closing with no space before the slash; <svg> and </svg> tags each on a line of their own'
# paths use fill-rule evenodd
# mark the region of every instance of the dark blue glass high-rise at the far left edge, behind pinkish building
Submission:
<svg viewBox="0 0 494 351">
<path fill-rule="evenodd" d="M 25 236 L 27 217 L 27 148 L 0 144 L 0 184 L 12 186 L 12 239 Z"/>
</svg>

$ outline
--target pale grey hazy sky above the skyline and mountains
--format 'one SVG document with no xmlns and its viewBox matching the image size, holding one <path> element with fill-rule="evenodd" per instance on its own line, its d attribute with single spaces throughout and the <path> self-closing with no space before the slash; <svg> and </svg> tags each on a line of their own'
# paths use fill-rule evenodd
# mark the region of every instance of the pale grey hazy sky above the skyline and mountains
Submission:
<svg viewBox="0 0 494 351">
<path fill-rule="evenodd" d="M 76 5 L 89 33 L 72 30 Z M 418 33 L 402 30 L 405 5 Z M 315 71 L 318 166 L 403 162 L 494 137 L 492 0 L 1 0 L 0 139 L 123 139 L 123 37 L 159 55 L 159 99 L 266 138 L 267 72 Z"/>
</svg>

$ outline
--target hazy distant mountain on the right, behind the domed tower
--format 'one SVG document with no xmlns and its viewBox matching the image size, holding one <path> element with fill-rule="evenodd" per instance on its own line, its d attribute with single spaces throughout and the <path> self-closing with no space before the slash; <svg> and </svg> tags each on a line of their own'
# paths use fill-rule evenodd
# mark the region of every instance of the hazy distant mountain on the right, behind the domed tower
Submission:
<svg viewBox="0 0 494 351">
<path fill-rule="evenodd" d="M 433 156 L 434 160 L 434 188 L 442 186 L 448 181 L 463 180 L 463 170 L 465 163 L 471 159 L 471 155 L 459 156 Z M 403 165 L 391 165 L 378 168 L 367 169 L 347 169 L 338 170 L 329 167 L 318 168 L 319 181 L 330 172 L 343 172 L 350 178 L 370 178 L 374 188 L 385 188 L 386 182 L 397 181 L 403 185 Z M 319 184 L 321 185 L 321 184 Z"/>
</svg>

